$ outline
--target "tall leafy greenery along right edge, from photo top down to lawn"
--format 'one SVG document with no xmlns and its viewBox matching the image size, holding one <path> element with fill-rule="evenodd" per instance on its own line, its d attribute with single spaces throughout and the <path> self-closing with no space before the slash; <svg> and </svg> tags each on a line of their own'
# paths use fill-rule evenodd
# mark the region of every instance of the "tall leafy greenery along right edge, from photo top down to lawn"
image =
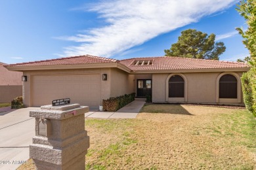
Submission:
<svg viewBox="0 0 256 170">
<path fill-rule="evenodd" d="M 240 1 L 238 12 L 244 16 L 248 28 L 236 28 L 243 37 L 243 42 L 250 53 L 251 69 L 242 76 L 244 103 L 247 110 L 256 116 L 256 0 Z"/>
</svg>

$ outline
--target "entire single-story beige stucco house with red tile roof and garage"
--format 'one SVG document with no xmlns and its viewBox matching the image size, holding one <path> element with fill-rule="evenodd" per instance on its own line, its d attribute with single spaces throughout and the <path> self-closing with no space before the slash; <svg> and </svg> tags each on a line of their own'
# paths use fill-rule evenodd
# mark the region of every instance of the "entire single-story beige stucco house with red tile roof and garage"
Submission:
<svg viewBox="0 0 256 170">
<path fill-rule="evenodd" d="M 229 61 L 174 57 L 116 60 L 89 55 L 5 67 L 27 76 L 23 96 L 28 107 L 70 97 L 72 103 L 91 108 L 102 105 L 102 99 L 132 92 L 137 97 L 152 95 L 152 101 L 160 103 L 244 105 L 240 77 L 249 70 L 246 63 Z"/>
</svg>

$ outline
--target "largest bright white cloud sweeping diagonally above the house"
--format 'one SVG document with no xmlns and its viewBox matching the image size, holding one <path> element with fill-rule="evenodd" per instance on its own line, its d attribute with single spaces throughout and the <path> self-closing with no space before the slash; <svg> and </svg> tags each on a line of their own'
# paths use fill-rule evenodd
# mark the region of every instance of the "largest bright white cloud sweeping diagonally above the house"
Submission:
<svg viewBox="0 0 256 170">
<path fill-rule="evenodd" d="M 91 54 L 110 57 L 142 44 L 161 33 L 197 22 L 202 16 L 224 10 L 234 0 L 106 0 L 79 8 L 96 12 L 108 25 L 89 29 L 67 41 L 81 42 L 64 48 L 66 56 Z M 88 30 L 88 28 L 85 28 Z"/>
</svg>

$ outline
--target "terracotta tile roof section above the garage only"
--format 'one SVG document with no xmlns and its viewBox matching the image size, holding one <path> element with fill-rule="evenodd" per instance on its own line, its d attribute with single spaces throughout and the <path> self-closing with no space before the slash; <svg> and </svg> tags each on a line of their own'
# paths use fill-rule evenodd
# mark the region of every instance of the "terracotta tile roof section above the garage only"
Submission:
<svg viewBox="0 0 256 170">
<path fill-rule="evenodd" d="M 84 63 L 116 63 L 116 59 L 100 58 L 97 56 L 75 56 L 69 58 L 47 59 L 41 61 L 32 61 L 27 63 L 10 64 L 9 66 L 25 66 L 25 65 L 71 65 L 71 64 L 84 64 Z"/>
</svg>

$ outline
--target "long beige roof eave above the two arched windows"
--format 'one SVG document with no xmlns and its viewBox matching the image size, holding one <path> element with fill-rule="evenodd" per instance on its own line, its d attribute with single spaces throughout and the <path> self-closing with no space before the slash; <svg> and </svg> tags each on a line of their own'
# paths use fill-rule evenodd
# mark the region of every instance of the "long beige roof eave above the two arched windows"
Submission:
<svg viewBox="0 0 256 170">
<path fill-rule="evenodd" d="M 236 71 L 246 72 L 249 71 L 249 67 L 238 68 L 215 68 L 215 69 L 161 69 L 161 70 L 138 70 L 132 71 L 132 74 L 152 74 L 152 73 L 206 73 L 206 72 L 224 72 L 224 71 Z"/>
</svg>

